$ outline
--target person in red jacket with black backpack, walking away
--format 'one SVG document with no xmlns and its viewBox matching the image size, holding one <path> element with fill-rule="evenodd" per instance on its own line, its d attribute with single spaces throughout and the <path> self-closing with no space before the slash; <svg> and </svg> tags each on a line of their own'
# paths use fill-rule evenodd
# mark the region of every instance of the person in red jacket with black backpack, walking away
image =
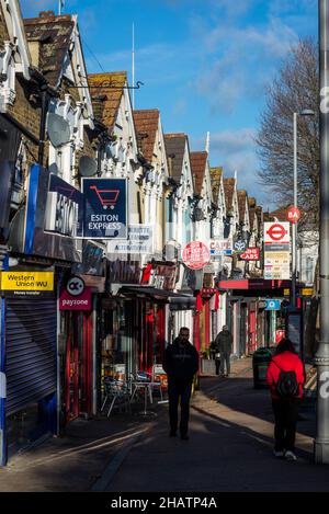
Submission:
<svg viewBox="0 0 329 514">
<path fill-rule="evenodd" d="M 296 425 L 304 382 L 304 365 L 293 343 L 288 339 L 283 339 L 276 347 L 266 373 L 275 420 L 275 457 L 296 460 Z"/>
</svg>

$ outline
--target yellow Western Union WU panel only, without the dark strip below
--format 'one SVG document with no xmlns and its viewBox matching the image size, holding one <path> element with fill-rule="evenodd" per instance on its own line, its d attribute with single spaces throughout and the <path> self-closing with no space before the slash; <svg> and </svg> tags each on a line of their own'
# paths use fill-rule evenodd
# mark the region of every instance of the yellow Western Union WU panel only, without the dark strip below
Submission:
<svg viewBox="0 0 329 514">
<path fill-rule="evenodd" d="M 54 272 L 2 272 L 2 290 L 54 290 Z"/>
</svg>

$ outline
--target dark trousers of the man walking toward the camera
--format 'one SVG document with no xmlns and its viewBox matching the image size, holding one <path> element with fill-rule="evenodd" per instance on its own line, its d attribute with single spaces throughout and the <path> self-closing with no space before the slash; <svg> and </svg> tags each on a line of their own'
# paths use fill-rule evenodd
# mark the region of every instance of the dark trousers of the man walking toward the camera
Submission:
<svg viewBox="0 0 329 514">
<path fill-rule="evenodd" d="M 175 432 L 178 429 L 178 406 L 181 400 L 181 421 L 180 432 L 186 434 L 189 430 L 190 418 L 190 398 L 192 390 L 192 381 L 169 380 L 169 421 L 170 430 Z"/>
</svg>

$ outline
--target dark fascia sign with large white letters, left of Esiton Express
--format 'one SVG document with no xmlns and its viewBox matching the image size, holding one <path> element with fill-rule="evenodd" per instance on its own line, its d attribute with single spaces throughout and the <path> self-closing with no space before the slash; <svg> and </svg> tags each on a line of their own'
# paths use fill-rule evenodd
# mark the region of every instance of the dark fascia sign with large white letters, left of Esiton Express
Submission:
<svg viewBox="0 0 329 514">
<path fill-rule="evenodd" d="M 83 196 L 76 187 L 50 173 L 44 231 L 82 237 Z"/>
</svg>

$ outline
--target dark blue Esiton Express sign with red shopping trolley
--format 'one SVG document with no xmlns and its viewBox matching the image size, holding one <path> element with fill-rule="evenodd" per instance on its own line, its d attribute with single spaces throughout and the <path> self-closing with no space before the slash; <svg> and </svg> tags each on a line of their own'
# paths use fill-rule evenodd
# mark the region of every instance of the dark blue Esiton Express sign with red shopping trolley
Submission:
<svg viewBox="0 0 329 514">
<path fill-rule="evenodd" d="M 83 237 L 127 239 L 126 179 L 82 179 Z"/>
</svg>

